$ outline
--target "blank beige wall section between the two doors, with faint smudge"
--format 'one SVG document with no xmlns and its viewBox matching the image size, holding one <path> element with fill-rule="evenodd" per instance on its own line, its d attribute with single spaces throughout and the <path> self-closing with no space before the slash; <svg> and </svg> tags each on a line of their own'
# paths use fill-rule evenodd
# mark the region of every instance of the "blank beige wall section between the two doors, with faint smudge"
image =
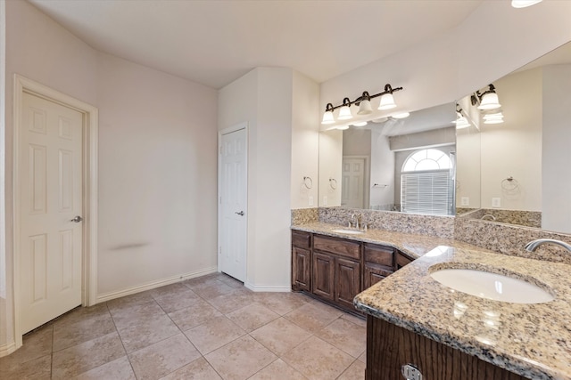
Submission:
<svg viewBox="0 0 571 380">
<path fill-rule="evenodd" d="M 216 91 L 97 62 L 98 294 L 215 271 Z"/>
</svg>

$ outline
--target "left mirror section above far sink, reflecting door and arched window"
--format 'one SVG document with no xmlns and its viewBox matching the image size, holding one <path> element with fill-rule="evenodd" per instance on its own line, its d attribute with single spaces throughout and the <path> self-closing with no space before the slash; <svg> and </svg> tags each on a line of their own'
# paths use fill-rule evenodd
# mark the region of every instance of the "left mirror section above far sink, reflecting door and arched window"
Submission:
<svg viewBox="0 0 571 380">
<path fill-rule="evenodd" d="M 319 136 L 319 206 L 455 213 L 455 103 Z"/>
</svg>

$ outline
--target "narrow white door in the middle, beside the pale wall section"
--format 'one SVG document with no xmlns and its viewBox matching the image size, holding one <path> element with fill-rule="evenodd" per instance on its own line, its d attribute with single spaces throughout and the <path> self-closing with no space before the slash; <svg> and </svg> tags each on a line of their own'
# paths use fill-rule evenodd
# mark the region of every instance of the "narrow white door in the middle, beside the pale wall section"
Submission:
<svg viewBox="0 0 571 380">
<path fill-rule="evenodd" d="M 222 134 L 220 141 L 219 270 L 245 280 L 247 171 L 245 129 Z"/>
</svg>

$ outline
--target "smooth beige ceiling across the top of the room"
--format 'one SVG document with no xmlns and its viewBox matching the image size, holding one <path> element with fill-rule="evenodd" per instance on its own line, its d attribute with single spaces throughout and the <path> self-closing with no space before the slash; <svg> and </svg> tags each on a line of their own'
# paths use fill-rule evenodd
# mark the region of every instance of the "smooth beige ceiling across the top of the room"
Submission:
<svg viewBox="0 0 571 380">
<path fill-rule="evenodd" d="M 29 0 L 95 49 L 220 88 L 255 67 L 318 83 L 456 27 L 483 0 Z"/>
</svg>

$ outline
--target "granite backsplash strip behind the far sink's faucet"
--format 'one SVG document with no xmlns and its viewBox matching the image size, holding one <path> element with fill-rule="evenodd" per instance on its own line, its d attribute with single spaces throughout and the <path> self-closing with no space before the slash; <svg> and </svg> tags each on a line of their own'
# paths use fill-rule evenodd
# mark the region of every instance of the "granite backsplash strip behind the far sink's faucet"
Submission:
<svg viewBox="0 0 571 380">
<path fill-rule="evenodd" d="M 418 235 L 452 239 L 454 217 L 403 214 L 391 211 L 362 210 L 344 207 L 319 207 L 319 222 L 347 225 L 352 214 L 360 214 L 368 228 L 392 230 Z"/>
</svg>

